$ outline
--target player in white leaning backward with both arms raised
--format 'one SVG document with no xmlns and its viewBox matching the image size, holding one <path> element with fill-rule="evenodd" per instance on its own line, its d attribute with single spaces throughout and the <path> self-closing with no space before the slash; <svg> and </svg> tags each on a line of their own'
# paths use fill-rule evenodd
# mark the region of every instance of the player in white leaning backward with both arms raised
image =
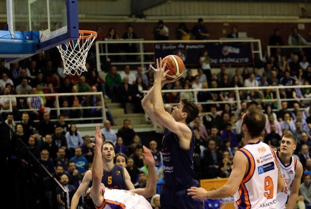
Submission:
<svg viewBox="0 0 311 209">
<path fill-rule="evenodd" d="M 95 154 L 92 168 L 93 184 L 84 196 L 86 204 L 88 204 L 90 208 L 94 208 L 95 206 L 96 209 L 151 209 L 152 207 L 150 203 L 144 198 L 151 197 L 156 193 L 156 168 L 155 160 L 151 151 L 145 146 L 143 147 L 143 156 L 149 168 L 149 179 L 146 188 L 138 188 L 129 191 L 108 189 L 104 187 L 103 183 L 101 183 L 103 175 L 101 154 L 102 144 L 103 140 L 100 133 L 100 126 L 97 125 L 95 132 Z"/>
</svg>

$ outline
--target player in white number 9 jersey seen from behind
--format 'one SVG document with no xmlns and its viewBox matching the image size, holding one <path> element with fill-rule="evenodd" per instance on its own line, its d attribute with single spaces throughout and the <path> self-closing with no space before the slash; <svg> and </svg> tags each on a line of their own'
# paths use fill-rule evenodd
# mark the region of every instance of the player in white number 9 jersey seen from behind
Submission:
<svg viewBox="0 0 311 209">
<path fill-rule="evenodd" d="M 284 180 L 275 152 L 259 140 L 265 124 L 265 115 L 251 105 L 241 122 L 246 145 L 234 154 L 233 169 L 227 183 L 209 192 L 192 187 L 188 189 L 188 195 L 200 199 L 234 195 L 235 208 L 275 208 L 276 193 L 284 188 Z"/>
</svg>

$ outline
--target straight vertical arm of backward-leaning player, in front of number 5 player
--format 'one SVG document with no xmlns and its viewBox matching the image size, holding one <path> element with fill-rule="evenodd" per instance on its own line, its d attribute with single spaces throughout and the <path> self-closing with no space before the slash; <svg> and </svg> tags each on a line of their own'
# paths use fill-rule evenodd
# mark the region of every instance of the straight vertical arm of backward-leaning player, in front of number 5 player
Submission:
<svg viewBox="0 0 311 209">
<path fill-rule="evenodd" d="M 103 175 L 103 161 L 101 154 L 101 145 L 103 139 L 100 133 L 100 125 L 96 126 L 95 131 L 95 152 L 92 166 L 93 185 L 90 191 L 92 200 L 97 207 L 100 207 L 104 202 L 104 196 L 101 192 L 101 178 Z"/>
</svg>

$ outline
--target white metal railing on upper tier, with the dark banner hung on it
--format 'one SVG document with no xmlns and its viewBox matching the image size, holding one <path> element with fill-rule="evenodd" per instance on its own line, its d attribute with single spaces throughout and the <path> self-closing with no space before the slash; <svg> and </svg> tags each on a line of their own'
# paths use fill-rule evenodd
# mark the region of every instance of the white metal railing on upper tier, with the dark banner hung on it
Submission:
<svg viewBox="0 0 311 209">
<path fill-rule="evenodd" d="M 259 58 L 262 59 L 262 48 L 261 48 L 261 41 L 259 39 L 225 39 L 225 40 L 163 40 L 163 41 L 156 41 L 156 40 L 143 40 L 143 39 L 126 39 L 126 40 L 105 40 L 105 41 L 96 41 L 96 63 L 97 69 L 101 69 L 101 59 L 100 56 L 105 56 L 106 61 L 110 61 L 109 55 L 139 55 L 140 60 L 134 62 L 112 62 L 112 65 L 121 65 L 121 64 L 140 64 L 142 68 L 144 68 L 144 64 L 154 64 L 154 61 L 145 61 L 144 55 L 154 55 L 153 52 L 144 52 L 144 44 L 156 44 L 156 43 L 228 43 L 228 42 L 244 42 L 244 43 L 251 43 L 252 53 L 258 54 Z M 109 53 L 108 51 L 108 44 L 138 44 L 138 51 L 135 53 L 127 53 L 127 52 L 120 52 L 120 53 Z M 254 50 L 253 43 L 257 43 L 258 50 Z M 104 47 L 105 46 L 105 50 Z"/>
</svg>

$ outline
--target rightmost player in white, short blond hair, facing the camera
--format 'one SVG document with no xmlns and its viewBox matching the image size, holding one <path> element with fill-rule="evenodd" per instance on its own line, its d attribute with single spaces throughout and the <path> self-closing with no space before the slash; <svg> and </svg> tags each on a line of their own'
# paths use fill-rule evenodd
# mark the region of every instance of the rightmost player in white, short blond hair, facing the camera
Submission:
<svg viewBox="0 0 311 209">
<path fill-rule="evenodd" d="M 285 134 L 281 140 L 280 151 L 276 152 L 277 161 L 285 182 L 284 188 L 276 195 L 276 209 L 293 209 L 298 199 L 303 168 L 302 164 L 292 156 L 296 150 L 296 145 L 296 138 L 291 134 Z M 285 207 L 286 200 L 287 207 Z"/>
</svg>

